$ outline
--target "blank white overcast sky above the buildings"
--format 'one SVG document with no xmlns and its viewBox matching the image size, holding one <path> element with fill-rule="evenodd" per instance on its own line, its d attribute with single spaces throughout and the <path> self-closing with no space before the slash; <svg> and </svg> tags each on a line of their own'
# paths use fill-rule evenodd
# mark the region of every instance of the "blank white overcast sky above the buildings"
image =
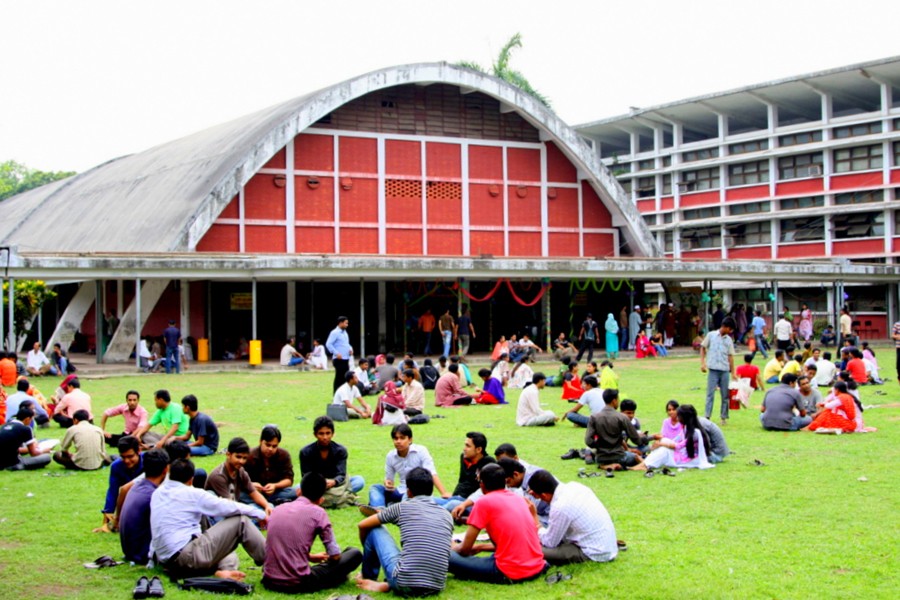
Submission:
<svg viewBox="0 0 900 600">
<path fill-rule="evenodd" d="M 0 0 L 0 161 L 83 171 L 386 66 L 512 66 L 575 125 L 900 54 L 896 0 Z M 893 40 L 893 41 L 892 41 Z"/>
</svg>

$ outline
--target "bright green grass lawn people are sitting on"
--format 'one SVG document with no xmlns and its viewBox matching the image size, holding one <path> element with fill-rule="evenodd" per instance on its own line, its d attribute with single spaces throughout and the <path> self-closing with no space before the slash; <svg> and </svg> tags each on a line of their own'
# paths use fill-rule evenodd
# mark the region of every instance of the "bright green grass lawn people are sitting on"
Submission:
<svg viewBox="0 0 900 600">
<path fill-rule="evenodd" d="M 764 432 L 756 410 L 733 411 L 725 428 L 735 452 L 709 471 L 645 479 L 638 473 L 615 479 L 577 480 L 594 489 L 629 550 L 610 564 L 565 567 L 569 581 L 544 581 L 504 587 L 457 582 L 448 578 L 447 598 L 806 598 L 897 596 L 900 561 L 897 542 L 900 514 L 900 393 L 893 371 L 893 349 L 877 349 L 884 386 L 862 390 L 867 425 L 877 433 L 824 436 Z M 762 366 L 761 357 L 757 364 Z M 539 363 L 546 372 L 549 363 Z M 644 429 L 658 431 L 671 398 L 703 411 L 705 376 L 699 360 L 621 360 L 622 397 L 637 401 Z M 313 440 L 312 422 L 331 398 L 331 373 L 247 373 L 181 376 L 143 375 L 85 380 L 95 414 L 137 389 L 153 410 L 156 389 L 170 390 L 175 402 L 195 394 L 200 410 L 219 423 L 222 446 L 234 436 L 251 445 L 260 428 L 276 423 L 284 434 L 298 472 L 297 453 Z M 54 379 L 36 381 L 45 394 Z M 876 395 L 876 391 L 886 395 Z M 515 426 L 518 391 L 500 407 L 442 409 L 446 419 L 414 427 L 414 441 L 429 448 L 441 478 L 452 490 L 465 432 L 479 430 L 489 450 L 501 442 L 516 445 L 519 456 L 550 470 L 564 481 L 575 480 L 581 461 L 559 455 L 580 447 L 583 429 L 571 424 L 524 429 Z M 758 393 L 759 394 L 759 393 Z M 561 414 L 567 403 L 559 388 L 545 388 L 541 400 Z M 373 398 L 374 400 L 374 398 Z M 752 402 L 759 404 L 761 396 Z M 427 402 L 433 403 L 428 392 Z M 436 409 L 429 408 L 434 414 Z M 718 414 L 718 399 L 715 414 Z M 120 426 L 121 421 L 113 426 Z M 114 430 L 114 429 L 113 429 Z M 41 434 L 62 437 L 54 425 Z M 349 471 L 367 486 L 383 477 L 384 456 L 392 448 L 388 428 L 369 422 L 338 423 L 335 440 L 350 451 Z M 748 463 L 759 459 L 767 466 Z M 207 471 L 222 456 L 197 459 Z M 108 472 L 69 473 L 53 464 L 41 471 L 0 473 L 0 590 L 6 598 L 125 598 L 145 569 L 123 565 L 88 570 L 82 563 L 103 554 L 120 556 L 113 535 L 92 534 Z M 863 480 L 861 480 L 861 478 Z M 362 498 L 367 497 L 363 490 Z M 354 510 L 330 511 L 338 543 L 359 545 Z M 394 533 L 397 531 L 394 529 Z M 261 572 L 241 551 L 241 567 L 259 597 L 278 597 L 259 584 Z M 165 581 L 166 597 L 187 597 Z M 356 593 L 352 583 L 332 593 Z M 387 597 L 387 596 L 385 596 Z"/>
</svg>

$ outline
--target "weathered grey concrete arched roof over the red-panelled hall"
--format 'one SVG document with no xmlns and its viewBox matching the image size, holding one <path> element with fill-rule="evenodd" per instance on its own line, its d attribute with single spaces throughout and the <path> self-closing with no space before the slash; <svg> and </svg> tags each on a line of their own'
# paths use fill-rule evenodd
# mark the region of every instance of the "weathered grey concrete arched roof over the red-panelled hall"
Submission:
<svg viewBox="0 0 900 600">
<path fill-rule="evenodd" d="M 192 250 L 241 187 L 297 134 L 368 93 L 444 83 L 491 96 L 581 171 L 635 255 L 659 249 L 634 204 L 578 134 L 500 79 L 447 63 L 390 67 L 125 156 L 0 203 L 0 243 L 19 252 Z"/>
</svg>

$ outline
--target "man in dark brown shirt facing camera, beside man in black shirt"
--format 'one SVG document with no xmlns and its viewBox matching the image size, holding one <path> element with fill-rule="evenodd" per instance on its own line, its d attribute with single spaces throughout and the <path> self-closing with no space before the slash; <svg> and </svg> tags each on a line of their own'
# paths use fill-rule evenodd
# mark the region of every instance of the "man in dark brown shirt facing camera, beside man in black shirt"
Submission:
<svg viewBox="0 0 900 600">
<path fill-rule="evenodd" d="M 281 430 L 275 425 L 266 425 L 259 434 L 259 446 L 250 451 L 244 465 L 253 487 L 273 506 L 297 498 L 293 487 L 294 464 L 290 453 L 280 445 Z M 240 501 L 253 502 L 247 494 L 241 494 Z"/>
</svg>

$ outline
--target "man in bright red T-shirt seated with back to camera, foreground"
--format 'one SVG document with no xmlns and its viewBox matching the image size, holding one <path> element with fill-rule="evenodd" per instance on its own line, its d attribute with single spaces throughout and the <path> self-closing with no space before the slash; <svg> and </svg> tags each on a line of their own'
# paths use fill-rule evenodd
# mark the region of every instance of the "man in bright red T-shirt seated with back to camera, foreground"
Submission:
<svg viewBox="0 0 900 600">
<path fill-rule="evenodd" d="M 533 505 L 506 489 L 506 472 L 500 465 L 486 465 L 480 479 L 484 496 L 472 507 L 462 543 L 453 545 L 450 572 L 457 579 L 487 583 L 518 583 L 538 577 L 549 565 L 541 550 Z M 482 529 L 493 543 L 475 543 Z M 493 554 L 489 556 L 473 556 L 490 551 Z"/>
</svg>

